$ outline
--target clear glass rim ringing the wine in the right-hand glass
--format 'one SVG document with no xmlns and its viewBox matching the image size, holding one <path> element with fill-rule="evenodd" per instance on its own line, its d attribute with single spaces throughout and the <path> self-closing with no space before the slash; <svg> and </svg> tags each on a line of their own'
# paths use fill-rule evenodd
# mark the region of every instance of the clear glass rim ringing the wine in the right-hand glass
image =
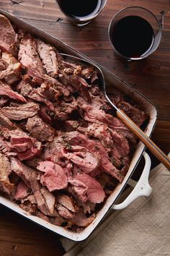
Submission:
<svg viewBox="0 0 170 256">
<path fill-rule="evenodd" d="M 112 45 L 112 48 L 115 50 L 115 52 L 117 53 L 117 55 L 119 55 L 120 57 L 122 57 L 123 59 L 127 59 L 127 60 L 132 60 L 132 61 L 137 61 L 137 60 L 140 60 L 140 59 L 144 59 L 146 58 L 147 56 L 149 56 L 150 54 L 152 54 L 154 51 L 149 51 L 146 55 L 144 56 L 140 56 L 138 58 L 130 58 L 128 56 L 124 56 L 122 54 L 120 54 L 119 51 L 117 51 L 117 49 L 115 48 L 115 46 L 113 45 L 112 43 L 112 40 L 110 38 L 110 30 L 111 30 L 111 26 L 112 26 L 112 22 L 115 20 L 115 17 L 117 17 L 117 14 L 120 14 L 120 12 L 124 12 L 126 9 L 143 9 L 144 11 L 148 12 L 149 14 L 151 14 L 153 16 L 153 18 L 156 20 L 156 22 L 158 23 L 158 27 L 159 27 L 159 33 L 160 33 L 160 36 L 159 36 L 159 39 L 158 39 L 158 43 L 157 43 L 157 46 L 156 48 L 154 49 L 154 51 L 156 51 L 156 49 L 158 48 L 160 42 L 161 42 L 161 35 L 162 35 L 162 27 L 161 27 L 161 24 L 160 22 L 158 21 L 157 17 L 155 14 L 153 14 L 153 12 L 151 12 L 150 10 L 144 8 L 144 7 L 138 7 L 138 6 L 134 6 L 134 7 L 125 7 L 123 9 L 120 9 L 119 12 L 117 12 L 113 17 L 112 17 L 112 20 L 109 22 L 109 27 L 108 27 L 108 35 L 109 35 L 109 42 L 111 43 Z"/>
</svg>

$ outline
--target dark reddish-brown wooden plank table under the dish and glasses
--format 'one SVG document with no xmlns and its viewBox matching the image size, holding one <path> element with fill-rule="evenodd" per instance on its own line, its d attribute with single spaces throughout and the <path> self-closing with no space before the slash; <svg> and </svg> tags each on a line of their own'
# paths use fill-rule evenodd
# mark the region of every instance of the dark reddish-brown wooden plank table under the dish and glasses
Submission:
<svg viewBox="0 0 170 256">
<path fill-rule="evenodd" d="M 125 63 L 117 59 L 107 36 L 112 16 L 128 6 L 150 9 L 161 18 L 164 32 L 158 50 L 143 61 Z M 96 20 L 83 28 L 73 27 L 59 11 L 55 0 L 0 0 L 0 8 L 54 35 L 114 72 L 146 95 L 158 108 L 153 140 L 165 153 L 170 145 L 170 3 L 168 0 L 108 0 Z M 153 163 L 156 163 L 153 158 Z M 0 207 L 1 256 L 63 255 L 58 236 Z"/>
</svg>

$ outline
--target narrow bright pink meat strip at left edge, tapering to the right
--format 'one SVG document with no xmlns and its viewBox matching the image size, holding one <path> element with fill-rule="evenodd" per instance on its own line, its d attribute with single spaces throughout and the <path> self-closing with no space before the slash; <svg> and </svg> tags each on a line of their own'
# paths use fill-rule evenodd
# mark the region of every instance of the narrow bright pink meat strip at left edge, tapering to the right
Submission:
<svg viewBox="0 0 170 256">
<path fill-rule="evenodd" d="M 9 98 L 13 98 L 16 101 L 20 101 L 20 102 L 24 102 L 24 103 L 27 102 L 22 95 L 20 95 L 17 92 L 14 92 L 14 90 L 12 90 L 12 88 L 10 88 L 9 85 L 6 85 L 6 84 L 4 84 L 4 82 L 1 82 L 1 81 L 0 81 L 0 95 L 4 95 Z"/>
</svg>

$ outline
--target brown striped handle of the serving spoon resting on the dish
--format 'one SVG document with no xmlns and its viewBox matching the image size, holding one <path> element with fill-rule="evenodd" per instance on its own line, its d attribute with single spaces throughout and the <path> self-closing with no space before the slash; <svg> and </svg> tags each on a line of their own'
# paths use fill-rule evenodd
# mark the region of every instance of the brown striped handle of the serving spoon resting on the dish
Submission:
<svg viewBox="0 0 170 256">
<path fill-rule="evenodd" d="M 117 109 L 117 116 L 131 129 L 132 132 L 151 150 L 153 155 L 170 170 L 170 158 L 130 119 L 123 111 Z"/>
</svg>

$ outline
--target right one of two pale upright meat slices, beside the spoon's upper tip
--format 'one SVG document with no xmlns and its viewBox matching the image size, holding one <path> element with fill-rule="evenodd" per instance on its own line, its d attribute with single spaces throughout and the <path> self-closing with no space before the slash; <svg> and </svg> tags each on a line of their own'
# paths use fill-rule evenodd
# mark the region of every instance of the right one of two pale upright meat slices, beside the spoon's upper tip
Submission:
<svg viewBox="0 0 170 256">
<path fill-rule="evenodd" d="M 37 52 L 42 60 L 43 68 L 52 77 L 58 74 L 58 59 L 55 50 L 47 43 L 37 40 Z"/>
</svg>

